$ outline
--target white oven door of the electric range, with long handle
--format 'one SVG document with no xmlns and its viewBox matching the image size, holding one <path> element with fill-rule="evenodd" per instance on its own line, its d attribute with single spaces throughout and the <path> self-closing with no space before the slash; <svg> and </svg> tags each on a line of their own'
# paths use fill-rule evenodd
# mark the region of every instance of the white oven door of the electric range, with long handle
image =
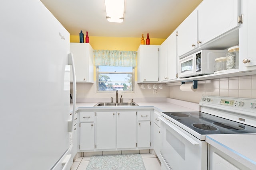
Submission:
<svg viewBox="0 0 256 170">
<path fill-rule="evenodd" d="M 168 119 L 163 124 L 160 154 L 170 170 L 206 170 L 207 143 L 187 133 Z"/>
</svg>

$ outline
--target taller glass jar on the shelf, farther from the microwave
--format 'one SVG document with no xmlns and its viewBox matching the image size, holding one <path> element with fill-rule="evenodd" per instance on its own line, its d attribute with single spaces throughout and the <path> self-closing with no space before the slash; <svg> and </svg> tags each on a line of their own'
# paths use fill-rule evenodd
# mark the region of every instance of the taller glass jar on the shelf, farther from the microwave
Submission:
<svg viewBox="0 0 256 170">
<path fill-rule="evenodd" d="M 230 47 L 226 56 L 227 69 L 239 68 L 239 45 Z"/>
</svg>

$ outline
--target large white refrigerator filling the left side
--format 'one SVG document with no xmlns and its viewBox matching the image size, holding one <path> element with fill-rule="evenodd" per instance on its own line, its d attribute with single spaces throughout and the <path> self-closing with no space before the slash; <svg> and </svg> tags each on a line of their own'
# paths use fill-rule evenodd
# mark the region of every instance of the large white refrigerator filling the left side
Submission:
<svg viewBox="0 0 256 170">
<path fill-rule="evenodd" d="M 0 23 L 0 169 L 69 169 L 70 34 L 39 0 L 2 1 Z"/>
</svg>

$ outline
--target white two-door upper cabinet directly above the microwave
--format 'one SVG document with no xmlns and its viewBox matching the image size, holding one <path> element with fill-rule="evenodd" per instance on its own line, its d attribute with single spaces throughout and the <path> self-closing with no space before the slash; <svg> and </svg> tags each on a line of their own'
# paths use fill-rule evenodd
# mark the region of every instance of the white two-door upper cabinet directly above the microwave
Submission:
<svg viewBox="0 0 256 170">
<path fill-rule="evenodd" d="M 239 16 L 240 0 L 203 0 L 177 28 L 177 56 L 238 44 Z"/>
</svg>

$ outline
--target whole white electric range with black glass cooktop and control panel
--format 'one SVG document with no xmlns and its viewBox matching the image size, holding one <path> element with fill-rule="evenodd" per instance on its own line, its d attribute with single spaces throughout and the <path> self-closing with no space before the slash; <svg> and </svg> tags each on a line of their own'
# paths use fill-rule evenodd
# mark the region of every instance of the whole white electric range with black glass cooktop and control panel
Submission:
<svg viewBox="0 0 256 170">
<path fill-rule="evenodd" d="M 206 135 L 256 134 L 256 99 L 203 95 L 198 112 L 162 112 L 163 146 L 169 170 L 206 170 Z"/>
</svg>

